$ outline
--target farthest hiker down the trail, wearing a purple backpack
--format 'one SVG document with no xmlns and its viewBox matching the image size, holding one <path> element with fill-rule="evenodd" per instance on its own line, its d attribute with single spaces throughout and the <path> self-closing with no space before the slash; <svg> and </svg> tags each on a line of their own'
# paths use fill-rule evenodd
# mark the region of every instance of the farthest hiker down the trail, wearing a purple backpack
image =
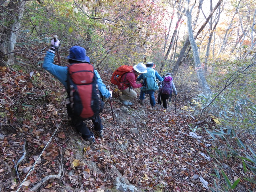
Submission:
<svg viewBox="0 0 256 192">
<path fill-rule="evenodd" d="M 164 76 L 164 81 L 158 82 L 159 85 L 159 92 L 158 92 L 158 104 L 159 106 L 162 105 L 163 101 L 163 107 L 167 108 L 167 99 L 172 98 L 172 92 L 175 95 L 177 95 L 176 87 L 172 81 L 171 73 L 166 73 Z"/>
</svg>

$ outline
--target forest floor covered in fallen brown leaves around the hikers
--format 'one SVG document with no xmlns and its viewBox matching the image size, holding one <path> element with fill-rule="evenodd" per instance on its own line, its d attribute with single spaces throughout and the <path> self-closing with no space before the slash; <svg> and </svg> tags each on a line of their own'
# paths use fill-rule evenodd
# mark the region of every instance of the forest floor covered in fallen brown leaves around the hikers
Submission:
<svg viewBox="0 0 256 192">
<path fill-rule="evenodd" d="M 188 94 L 179 93 L 167 109 L 152 108 L 147 100 L 146 109 L 138 102 L 138 89 L 133 105 L 124 108 L 117 99 L 121 93 L 110 87 L 115 126 L 105 99 L 104 137 L 90 145 L 72 129 L 63 87 L 53 76 L 5 67 L 0 74 L 0 191 L 16 191 L 23 182 L 20 191 L 101 192 L 112 188 L 117 176 L 145 191 L 211 191 L 226 185 L 218 163 L 225 165 L 231 183 L 243 177 L 240 162 L 210 156 L 212 148 L 225 145 L 219 139 L 219 146 L 212 146 L 204 129 L 216 126 L 212 117 L 202 117 L 191 133 L 189 125 L 197 120 L 182 109 L 191 100 Z M 100 76 L 110 84 L 110 74 Z M 91 121 L 86 124 L 93 130 Z M 249 189 L 255 185 L 241 179 L 234 191 Z"/>
</svg>

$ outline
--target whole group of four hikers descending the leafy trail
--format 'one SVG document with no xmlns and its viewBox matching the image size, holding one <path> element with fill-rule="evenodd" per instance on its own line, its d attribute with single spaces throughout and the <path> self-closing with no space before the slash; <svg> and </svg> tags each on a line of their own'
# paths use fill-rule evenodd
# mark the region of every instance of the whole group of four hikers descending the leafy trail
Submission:
<svg viewBox="0 0 256 192">
<path fill-rule="evenodd" d="M 98 71 L 90 63 L 90 58 L 86 56 L 86 50 L 83 47 L 73 46 L 69 49 L 69 55 L 65 58 L 68 59 L 68 66 L 53 64 L 59 45 L 60 41 L 54 37 L 51 47 L 44 57 L 43 68 L 64 85 L 68 93 L 66 100 L 68 116 L 76 131 L 82 134 L 82 138 L 93 144 L 95 142 L 94 134 L 84 121 L 91 119 L 97 136 L 100 138 L 103 136 L 103 125 L 99 115 L 104 107 L 101 96 L 111 99 L 112 91 L 103 84 Z M 167 108 L 167 99 L 172 94 L 172 90 L 177 95 L 177 90 L 171 74 L 167 73 L 161 77 L 154 69 L 155 67 L 156 64 L 148 62 L 146 65 L 138 63 L 133 67 L 123 65 L 115 70 L 111 77 L 111 83 L 117 85 L 118 89 L 122 91 L 123 94 L 119 100 L 125 106 L 132 105 L 130 100 L 137 96 L 132 88 L 140 88 L 140 104 L 143 105 L 145 94 L 149 94 L 150 104 L 154 107 L 156 105 L 154 94 L 159 89 L 158 104 L 161 105 L 161 101 L 163 101 L 163 107 Z M 157 84 L 156 78 L 163 82 L 160 86 Z M 141 79 L 142 82 L 137 84 L 136 80 L 140 81 Z M 166 91 L 167 89 L 169 90 Z"/>
</svg>

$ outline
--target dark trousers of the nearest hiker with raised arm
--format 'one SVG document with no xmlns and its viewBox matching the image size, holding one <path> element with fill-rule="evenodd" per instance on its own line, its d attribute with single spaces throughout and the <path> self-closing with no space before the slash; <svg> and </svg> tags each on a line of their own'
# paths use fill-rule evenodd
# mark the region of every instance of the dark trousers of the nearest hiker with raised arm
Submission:
<svg viewBox="0 0 256 192">
<path fill-rule="evenodd" d="M 76 128 L 76 131 L 82 133 L 83 139 L 88 139 L 94 135 L 93 132 L 91 132 L 88 129 L 87 125 L 84 123 L 84 121 L 88 120 L 88 119 L 83 119 L 83 118 L 75 116 L 72 113 L 72 109 L 70 109 L 70 108 L 67 108 L 67 110 L 68 110 L 68 116 L 71 117 L 72 123 L 73 123 L 74 127 Z M 100 115 L 94 116 L 89 119 L 92 120 L 95 131 L 100 131 L 103 129 L 103 125 L 101 124 Z"/>
</svg>

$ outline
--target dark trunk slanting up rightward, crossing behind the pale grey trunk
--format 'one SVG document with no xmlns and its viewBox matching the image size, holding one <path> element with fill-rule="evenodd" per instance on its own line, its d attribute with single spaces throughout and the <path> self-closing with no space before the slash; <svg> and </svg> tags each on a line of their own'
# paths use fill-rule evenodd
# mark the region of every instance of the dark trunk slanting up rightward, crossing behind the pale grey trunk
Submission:
<svg viewBox="0 0 256 192">
<path fill-rule="evenodd" d="M 196 39 L 196 37 L 202 32 L 202 30 L 204 29 L 204 27 L 206 26 L 206 24 L 208 23 L 208 21 L 210 20 L 210 18 L 212 17 L 213 13 L 215 12 L 215 10 L 220 6 L 220 3 L 222 2 L 222 0 L 219 0 L 218 3 L 216 4 L 216 6 L 213 8 L 212 12 L 210 13 L 210 15 L 208 16 L 208 18 L 206 19 L 206 21 L 204 22 L 204 24 L 201 26 L 201 28 L 198 30 L 196 36 L 194 37 Z M 180 51 L 180 55 L 174 65 L 174 67 L 172 68 L 172 74 L 176 74 L 178 72 L 179 66 L 181 64 L 182 58 L 186 52 L 186 49 L 188 48 L 188 45 L 190 44 L 189 39 L 187 37 L 181 51 Z"/>
</svg>

